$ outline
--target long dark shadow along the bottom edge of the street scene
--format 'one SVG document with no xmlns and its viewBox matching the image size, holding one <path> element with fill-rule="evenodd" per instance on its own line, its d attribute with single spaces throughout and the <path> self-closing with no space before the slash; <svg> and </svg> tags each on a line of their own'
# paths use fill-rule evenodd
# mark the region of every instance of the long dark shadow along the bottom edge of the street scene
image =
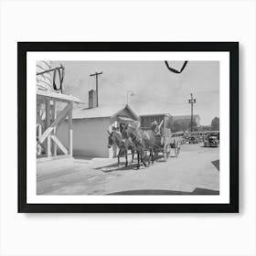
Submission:
<svg viewBox="0 0 256 256">
<path fill-rule="evenodd" d="M 153 195 L 219 195 L 219 190 L 211 190 L 206 188 L 195 188 L 192 192 L 176 191 L 176 190 L 159 190 L 159 189 L 144 189 L 144 190 L 128 190 L 111 193 L 108 195 L 134 195 L 134 196 L 153 196 Z"/>
</svg>

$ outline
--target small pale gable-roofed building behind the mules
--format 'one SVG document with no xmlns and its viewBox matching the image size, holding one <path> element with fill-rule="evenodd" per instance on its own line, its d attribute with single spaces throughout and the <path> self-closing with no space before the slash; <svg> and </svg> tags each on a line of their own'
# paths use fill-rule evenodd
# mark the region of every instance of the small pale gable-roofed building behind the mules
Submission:
<svg viewBox="0 0 256 256">
<path fill-rule="evenodd" d="M 107 133 L 112 127 L 122 123 L 139 126 L 139 116 L 128 106 L 105 105 L 95 108 L 83 108 L 73 111 L 73 154 L 86 157 L 113 157 L 116 150 L 108 148 Z M 58 130 L 59 139 L 65 146 L 69 145 L 66 134 L 69 121 L 61 123 Z"/>
</svg>

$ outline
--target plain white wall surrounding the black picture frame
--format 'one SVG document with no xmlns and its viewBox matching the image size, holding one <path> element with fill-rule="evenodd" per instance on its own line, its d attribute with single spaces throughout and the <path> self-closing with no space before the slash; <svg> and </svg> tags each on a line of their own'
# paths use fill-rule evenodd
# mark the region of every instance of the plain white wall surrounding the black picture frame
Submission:
<svg viewBox="0 0 256 256">
<path fill-rule="evenodd" d="M 105 2 L 0 2 L 0 254 L 255 256 L 255 1 Z M 19 40 L 239 40 L 240 214 L 17 214 Z"/>
</svg>

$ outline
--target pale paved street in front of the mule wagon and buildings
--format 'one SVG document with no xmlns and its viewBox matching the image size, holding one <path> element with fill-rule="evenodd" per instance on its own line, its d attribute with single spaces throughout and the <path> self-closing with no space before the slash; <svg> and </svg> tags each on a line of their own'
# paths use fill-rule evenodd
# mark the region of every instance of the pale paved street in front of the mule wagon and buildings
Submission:
<svg viewBox="0 0 256 256">
<path fill-rule="evenodd" d="M 186 144 L 181 153 L 149 167 L 117 166 L 117 159 L 80 159 L 73 163 L 51 161 L 37 166 L 40 195 L 201 195 L 219 194 L 219 148 Z"/>
</svg>

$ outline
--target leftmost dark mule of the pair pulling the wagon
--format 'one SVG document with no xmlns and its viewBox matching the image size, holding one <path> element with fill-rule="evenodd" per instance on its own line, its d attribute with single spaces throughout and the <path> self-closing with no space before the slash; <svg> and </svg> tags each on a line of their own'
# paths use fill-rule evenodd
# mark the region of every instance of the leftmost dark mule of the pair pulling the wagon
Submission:
<svg viewBox="0 0 256 256">
<path fill-rule="evenodd" d="M 108 139 L 108 148 L 111 148 L 113 144 L 115 144 L 118 148 L 119 148 L 119 153 L 117 155 L 117 159 L 118 159 L 118 166 L 120 166 L 120 157 L 125 156 L 125 166 L 128 165 L 128 157 L 127 157 L 127 153 L 128 150 L 131 150 L 132 155 L 134 156 L 134 145 L 130 144 L 127 140 L 124 140 L 122 138 L 121 133 L 117 133 L 117 132 L 108 132 L 109 133 L 109 139 Z M 133 156 L 132 156 L 132 161 L 131 163 L 133 163 Z"/>
</svg>

